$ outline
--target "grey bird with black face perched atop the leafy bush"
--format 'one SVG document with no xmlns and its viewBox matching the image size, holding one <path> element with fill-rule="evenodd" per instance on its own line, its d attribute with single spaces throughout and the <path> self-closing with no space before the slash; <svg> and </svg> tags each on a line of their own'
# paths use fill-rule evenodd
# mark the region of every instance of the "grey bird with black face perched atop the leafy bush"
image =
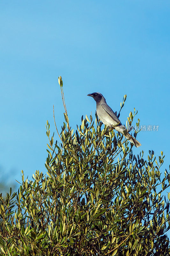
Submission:
<svg viewBox="0 0 170 256">
<path fill-rule="evenodd" d="M 121 124 L 121 121 L 107 105 L 105 98 L 100 92 L 93 92 L 87 94 L 87 96 L 91 96 L 96 101 L 96 113 L 103 124 L 113 127 L 117 132 L 122 133 L 135 147 L 141 146 L 140 142 L 130 135 L 126 127 Z"/>
</svg>

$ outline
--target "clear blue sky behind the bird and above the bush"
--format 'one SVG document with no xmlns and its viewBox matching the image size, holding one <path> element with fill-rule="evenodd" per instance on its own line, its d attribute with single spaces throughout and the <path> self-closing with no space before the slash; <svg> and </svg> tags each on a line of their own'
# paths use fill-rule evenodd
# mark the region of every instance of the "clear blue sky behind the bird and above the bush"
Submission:
<svg viewBox="0 0 170 256">
<path fill-rule="evenodd" d="M 101 92 L 126 123 L 135 107 L 141 125 L 137 139 L 147 155 L 166 155 L 170 164 L 170 1 L 1 1 L 0 175 L 5 184 L 46 173 L 45 124 L 63 124 L 58 76 L 72 128 L 95 114 L 88 93 Z M 56 133 L 55 133 L 56 134 Z M 57 135 L 56 137 L 57 138 Z"/>
</svg>

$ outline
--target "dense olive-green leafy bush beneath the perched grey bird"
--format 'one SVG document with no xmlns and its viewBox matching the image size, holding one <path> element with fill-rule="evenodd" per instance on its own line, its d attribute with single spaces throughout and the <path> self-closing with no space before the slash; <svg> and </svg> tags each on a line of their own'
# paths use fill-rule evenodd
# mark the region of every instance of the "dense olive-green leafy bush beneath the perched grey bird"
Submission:
<svg viewBox="0 0 170 256">
<path fill-rule="evenodd" d="M 50 137 L 47 121 L 47 175 L 36 171 L 24 180 L 22 172 L 18 192 L 1 196 L 0 255 L 170 255 L 170 193 L 162 196 L 170 174 L 161 178 L 163 152 L 157 160 L 153 151 L 147 160 L 143 151 L 135 156 L 120 133 L 101 129 L 97 116 L 95 124 L 92 116 L 82 117 L 74 133 L 61 77 L 59 84 L 61 142 Z M 130 112 L 127 127 L 135 115 Z"/>
</svg>

